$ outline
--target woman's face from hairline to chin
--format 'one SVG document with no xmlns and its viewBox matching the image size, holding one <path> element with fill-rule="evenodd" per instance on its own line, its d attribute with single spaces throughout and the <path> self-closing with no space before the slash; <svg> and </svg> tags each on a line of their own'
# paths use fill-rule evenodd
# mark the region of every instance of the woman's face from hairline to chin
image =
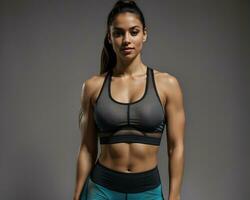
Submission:
<svg viewBox="0 0 250 200">
<path fill-rule="evenodd" d="M 127 59 L 137 56 L 146 41 L 147 32 L 138 17 L 129 12 L 116 16 L 108 33 L 109 42 L 118 58 Z M 131 48 L 124 50 L 124 48 Z"/>
</svg>

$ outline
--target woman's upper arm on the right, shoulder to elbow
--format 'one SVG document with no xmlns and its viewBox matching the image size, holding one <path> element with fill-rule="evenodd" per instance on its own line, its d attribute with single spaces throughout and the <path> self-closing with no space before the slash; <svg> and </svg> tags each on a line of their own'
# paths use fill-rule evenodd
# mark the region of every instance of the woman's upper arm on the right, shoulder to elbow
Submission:
<svg viewBox="0 0 250 200">
<path fill-rule="evenodd" d="M 165 110 L 168 121 L 167 140 L 169 148 L 183 145 L 185 126 L 183 94 L 180 84 L 175 77 L 169 79 Z"/>
</svg>

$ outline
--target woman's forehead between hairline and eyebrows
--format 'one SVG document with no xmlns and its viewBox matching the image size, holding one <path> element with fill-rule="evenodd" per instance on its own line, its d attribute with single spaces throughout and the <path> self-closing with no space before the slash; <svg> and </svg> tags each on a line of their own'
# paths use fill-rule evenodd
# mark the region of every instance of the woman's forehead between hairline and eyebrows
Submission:
<svg viewBox="0 0 250 200">
<path fill-rule="evenodd" d="M 120 13 L 115 17 L 111 28 L 129 29 L 133 26 L 138 26 L 139 28 L 142 28 L 141 21 L 139 20 L 136 14 L 125 12 Z"/>
</svg>

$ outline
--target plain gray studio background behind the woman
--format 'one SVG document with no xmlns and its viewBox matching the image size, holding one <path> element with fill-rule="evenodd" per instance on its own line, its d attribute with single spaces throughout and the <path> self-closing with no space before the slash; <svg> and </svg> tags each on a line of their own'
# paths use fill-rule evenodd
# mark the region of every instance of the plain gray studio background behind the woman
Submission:
<svg viewBox="0 0 250 200">
<path fill-rule="evenodd" d="M 114 2 L 1 1 L 1 200 L 72 199 L 81 87 L 99 72 Z M 249 198 L 249 3 L 138 5 L 149 34 L 143 62 L 177 77 L 183 89 L 182 200 Z M 167 162 L 164 134 L 165 197 Z"/>
</svg>

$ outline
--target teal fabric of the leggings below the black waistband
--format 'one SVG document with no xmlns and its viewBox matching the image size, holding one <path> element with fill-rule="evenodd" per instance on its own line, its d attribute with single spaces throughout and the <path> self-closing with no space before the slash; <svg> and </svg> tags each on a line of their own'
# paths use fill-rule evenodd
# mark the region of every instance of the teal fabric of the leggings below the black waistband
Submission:
<svg viewBox="0 0 250 200">
<path fill-rule="evenodd" d="M 80 195 L 80 200 L 164 200 L 164 197 L 161 184 L 144 192 L 122 193 L 98 185 L 88 177 Z"/>
</svg>

